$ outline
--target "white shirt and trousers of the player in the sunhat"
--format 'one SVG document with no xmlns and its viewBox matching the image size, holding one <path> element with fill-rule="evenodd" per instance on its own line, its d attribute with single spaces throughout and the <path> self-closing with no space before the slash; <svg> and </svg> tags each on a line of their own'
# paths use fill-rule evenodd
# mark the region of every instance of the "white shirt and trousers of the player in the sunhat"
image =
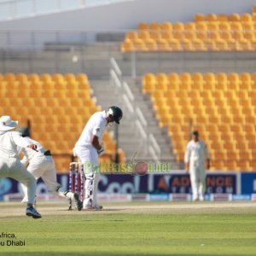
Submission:
<svg viewBox="0 0 256 256">
<path fill-rule="evenodd" d="M 18 131 L 0 131 L 0 179 L 12 177 L 22 183 L 27 188 L 27 202 L 34 204 L 36 180 L 20 163 L 19 158 L 19 148 L 29 145 Z"/>
</svg>

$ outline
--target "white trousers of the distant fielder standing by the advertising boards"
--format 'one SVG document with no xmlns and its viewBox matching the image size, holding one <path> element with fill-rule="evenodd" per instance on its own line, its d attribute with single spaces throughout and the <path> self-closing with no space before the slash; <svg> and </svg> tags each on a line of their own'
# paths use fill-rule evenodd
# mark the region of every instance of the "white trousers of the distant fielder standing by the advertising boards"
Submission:
<svg viewBox="0 0 256 256">
<path fill-rule="evenodd" d="M 204 166 L 190 165 L 190 183 L 192 188 L 193 200 L 198 197 L 203 198 L 206 192 L 206 169 Z"/>
</svg>

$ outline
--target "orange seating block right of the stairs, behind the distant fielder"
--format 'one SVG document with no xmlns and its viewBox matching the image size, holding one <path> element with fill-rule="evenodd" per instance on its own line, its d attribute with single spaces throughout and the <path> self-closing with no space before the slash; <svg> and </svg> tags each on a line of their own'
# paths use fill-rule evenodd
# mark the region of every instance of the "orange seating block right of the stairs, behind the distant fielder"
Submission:
<svg viewBox="0 0 256 256">
<path fill-rule="evenodd" d="M 256 73 L 147 73 L 143 93 L 167 127 L 177 160 L 198 130 L 213 170 L 256 169 Z"/>
</svg>

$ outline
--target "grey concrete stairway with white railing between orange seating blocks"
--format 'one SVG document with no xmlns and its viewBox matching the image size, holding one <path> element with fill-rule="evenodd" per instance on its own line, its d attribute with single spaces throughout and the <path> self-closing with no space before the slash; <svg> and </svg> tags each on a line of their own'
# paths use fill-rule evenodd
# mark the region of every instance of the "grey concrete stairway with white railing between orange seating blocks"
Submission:
<svg viewBox="0 0 256 256">
<path fill-rule="evenodd" d="M 160 160 L 172 161 L 175 167 L 177 167 L 175 155 L 172 153 L 172 142 L 166 130 L 160 129 L 158 126 L 149 97 L 141 93 L 140 86 L 137 86 L 132 79 L 125 78 L 125 81 L 129 84 L 135 97 L 135 102 L 137 102 L 137 107 L 142 110 L 145 119 L 147 119 L 148 132 L 151 132 L 156 138 L 157 143 L 159 143 L 161 149 Z M 115 104 L 125 109 L 122 97 L 109 81 L 102 79 L 90 80 L 90 84 L 93 89 L 93 95 L 96 96 L 97 103 L 99 103 L 103 109 Z M 124 111 L 124 117 L 119 125 L 119 147 L 125 150 L 127 160 L 131 160 L 132 155 L 137 150 L 138 141 L 134 135 L 136 132 L 134 127 L 134 123 L 127 117 L 127 113 L 125 115 Z M 145 152 L 140 152 L 137 157 L 141 160 L 150 160 Z"/>
</svg>

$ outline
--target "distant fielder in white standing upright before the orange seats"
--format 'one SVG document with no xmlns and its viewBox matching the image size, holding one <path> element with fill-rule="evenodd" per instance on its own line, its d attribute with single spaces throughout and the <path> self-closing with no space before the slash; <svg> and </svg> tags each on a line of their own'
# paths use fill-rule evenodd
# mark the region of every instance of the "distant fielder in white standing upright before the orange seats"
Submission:
<svg viewBox="0 0 256 256">
<path fill-rule="evenodd" d="M 206 168 L 210 168 L 210 155 L 206 143 L 199 139 L 199 132 L 192 132 L 192 140 L 188 143 L 185 152 L 185 171 L 190 173 L 190 183 L 193 201 L 204 201 L 206 191 Z"/>
</svg>

